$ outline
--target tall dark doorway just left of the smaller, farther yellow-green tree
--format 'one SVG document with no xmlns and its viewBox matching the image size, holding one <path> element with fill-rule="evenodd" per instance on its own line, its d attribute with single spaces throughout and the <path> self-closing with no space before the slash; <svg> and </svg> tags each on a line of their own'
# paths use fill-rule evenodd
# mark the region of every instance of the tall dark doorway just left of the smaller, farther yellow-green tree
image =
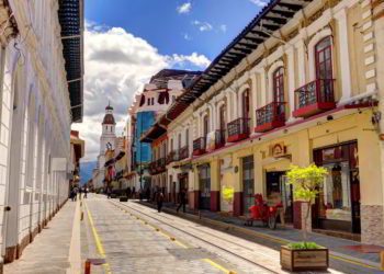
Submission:
<svg viewBox="0 0 384 274">
<path fill-rule="evenodd" d="M 211 167 L 204 164 L 199 167 L 199 207 L 211 209 Z"/>
</svg>

